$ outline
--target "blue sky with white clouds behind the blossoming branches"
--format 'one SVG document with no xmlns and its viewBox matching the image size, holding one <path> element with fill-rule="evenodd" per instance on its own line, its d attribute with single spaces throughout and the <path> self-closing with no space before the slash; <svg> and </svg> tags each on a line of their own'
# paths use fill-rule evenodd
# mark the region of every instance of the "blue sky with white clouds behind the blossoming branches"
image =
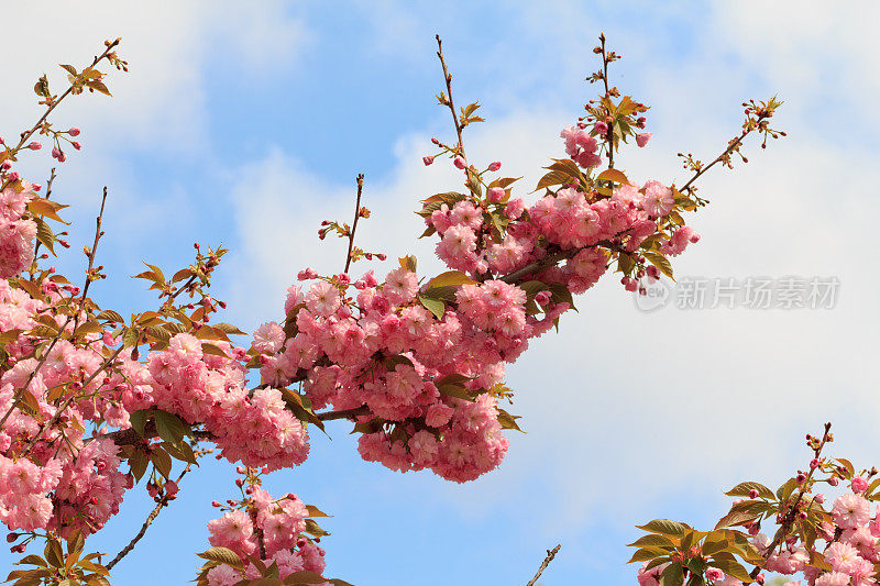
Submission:
<svg viewBox="0 0 880 586">
<path fill-rule="evenodd" d="M 85 96 L 56 117 L 84 131 L 55 190 L 74 204 L 72 251 L 90 237 L 108 185 L 110 278 L 96 297 L 145 310 L 152 297 L 128 278 L 142 259 L 172 269 L 189 263 L 194 241 L 222 241 L 232 252 L 217 296 L 228 321 L 252 330 L 279 317 L 298 269 L 339 269 L 341 242 L 319 244 L 315 231 L 349 218 L 360 172 L 374 212 L 362 244 L 439 266 L 415 241 L 411 214 L 458 184 L 420 162 L 431 136 L 451 135 L 433 98 L 435 33 L 457 99 L 480 100 L 488 119 L 465 139 L 471 158 L 499 159 L 529 184 L 561 156 L 559 129 L 592 96 L 583 78 L 601 31 L 624 55 L 614 81 L 652 107 L 649 147 L 620 159 L 631 178 L 681 179 L 676 152 L 710 158 L 737 131 L 743 100 L 778 93 L 789 139 L 763 153 L 751 145 L 748 165 L 706 179 L 713 203 L 692 220 L 704 237 L 676 274 L 835 276 L 834 309 L 644 313 L 608 278 L 509 369 L 528 433 L 510 436 L 501 469 L 461 486 L 392 473 L 361 461 L 338 423 L 332 440 L 312 436 L 305 465 L 268 480 L 334 516 L 323 523 L 328 575 L 359 586 L 524 584 L 558 542 L 543 584 L 631 584 L 634 524 L 708 524 L 729 485 L 781 484 L 803 466 L 803 434 L 825 420 L 838 425 L 840 455 L 878 463 L 866 367 L 880 323 L 880 119 L 866 108 L 880 90 L 877 11 L 868 1 L 12 2 L 4 16 L 33 26 L 6 33 L 20 53 L 4 65 L 0 134 L 38 117 L 30 88 L 40 73 L 61 84 L 54 64 L 80 64 L 122 35 L 131 73 L 111 77 L 114 98 Z M 26 169 L 41 180 L 50 166 L 43 151 Z M 58 265 L 76 274 L 80 261 L 72 252 Z M 114 584 L 191 579 L 210 501 L 233 495 L 230 472 L 206 463 L 187 477 Z M 89 546 L 113 554 L 148 508 L 129 495 Z"/>
</svg>

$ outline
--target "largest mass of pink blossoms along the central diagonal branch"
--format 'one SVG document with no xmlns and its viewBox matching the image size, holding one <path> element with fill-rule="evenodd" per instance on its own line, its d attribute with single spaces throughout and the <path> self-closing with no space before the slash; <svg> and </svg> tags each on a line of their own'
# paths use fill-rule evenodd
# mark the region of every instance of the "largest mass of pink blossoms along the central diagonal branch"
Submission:
<svg viewBox="0 0 880 586">
<path fill-rule="evenodd" d="M 588 169 L 600 163 L 595 140 L 585 131 L 572 128 L 562 135 L 576 164 Z M 673 203 L 672 190 L 657 181 L 641 189 L 623 185 L 608 198 L 564 187 L 530 208 L 497 187 L 488 189 L 487 201 L 464 198 L 451 208 L 444 202 L 426 221 L 439 236 L 438 256 L 469 275 L 470 283 L 444 299 L 441 316 L 420 300 L 430 295 L 431 284 L 419 287 L 415 272 L 405 266 L 388 273 L 383 284 L 372 272 L 352 281 L 348 274 L 319 278 L 304 270 L 299 278 L 312 280 L 310 287 L 292 287 L 285 303 L 295 334 L 286 338 L 275 322 L 255 333 L 263 382 L 278 387 L 301 383 L 315 409 L 369 408 L 358 417 L 365 460 L 399 471 L 427 467 L 458 482 L 473 479 L 497 466 L 507 449 L 497 396 L 491 392 L 503 380 L 504 363 L 514 362 L 529 339 L 552 328 L 570 307 L 550 287 L 560 285 L 572 294 L 588 289 L 610 259 L 601 244 L 636 251 L 657 234 L 658 220 Z M 490 236 L 491 211 L 506 222 L 499 239 Z M 681 228 L 662 245 L 678 253 L 689 239 L 696 236 Z M 548 244 L 564 254 L 562 267 L 550 264 L 515 283 L 501 278 L 540 262 Z M 543 285 L 534 296 L 543 316 L 526 311 L 529 298 L 517 283 L 529 279 Z M 449 391 L 450 377 L 459 391 Z"/>
</svg>

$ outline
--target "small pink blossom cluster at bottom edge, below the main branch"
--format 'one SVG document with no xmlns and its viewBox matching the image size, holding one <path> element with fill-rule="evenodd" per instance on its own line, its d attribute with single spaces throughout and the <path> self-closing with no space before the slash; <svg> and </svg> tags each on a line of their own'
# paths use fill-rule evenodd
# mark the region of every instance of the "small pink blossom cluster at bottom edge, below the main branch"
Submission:
<svg viewBox="0 0 880 586">
<path fill-rule="evenodd" d="M 207 573 L 208 584 L 232 586 L 243 578 L 258 578 L 262 574 L 250 556 L 266 565 L 277 564 L 282 579 L 304 570 L 321 574 L 326 567 L 324 551 L 301 535 L 309 516 L 302 501 L 290 494 L 275 499 L 260 486 L 249 486 L 245 493 L 248 498 L 227 501 L 231 510 L 208 522 L 211 545 L 235 552 L 242 567 L 212 567 Z"/>
</svg>

